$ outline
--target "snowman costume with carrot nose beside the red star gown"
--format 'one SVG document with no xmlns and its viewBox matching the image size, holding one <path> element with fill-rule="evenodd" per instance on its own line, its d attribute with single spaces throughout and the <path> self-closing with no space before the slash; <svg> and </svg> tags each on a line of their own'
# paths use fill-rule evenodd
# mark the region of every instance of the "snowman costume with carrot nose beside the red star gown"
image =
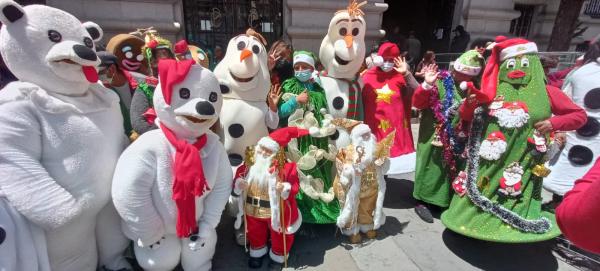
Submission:
<svg viewBox="0 0 600 271">
<path fill-rule="evenodd" d="M 327 110 L 334 118 L 359 119 L 362 110 L 362 86 L 356 77 L 365 59 L 367 27 L 360 5 L 353 2 L 333 16 L 319 50 L 319 58 L 325 67 L 325 73 L 320 76 L 321 86 L 325 90 Z M 356 108 L 351 108 L 351 104 Z M 338 133 L 333 138 L 336 147 L 348 146 L 350 135 L 347 130 L 340 127 Z"/>
</svg>

